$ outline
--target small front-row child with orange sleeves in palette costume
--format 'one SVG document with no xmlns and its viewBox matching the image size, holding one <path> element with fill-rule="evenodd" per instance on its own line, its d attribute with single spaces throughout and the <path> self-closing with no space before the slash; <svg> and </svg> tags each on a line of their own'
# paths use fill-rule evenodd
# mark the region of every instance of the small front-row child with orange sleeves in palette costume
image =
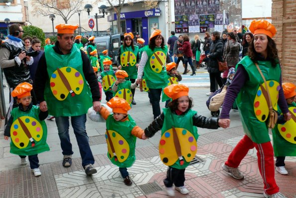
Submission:
<svg viewBox="0 0 296 198">
<path fill-rule="evenodd" d="M 136 126 L 135 121 L 127 114 L 130 105 L 122 98 L 113 97 L 107 105 L 113 113 L 101 107 L 100 115 L 106 120 L 106 142 L 108 146 L 108 158 L 119 167 L 119 172 L 125 185 L 132 185 L 127 168 L 136 160 L 136 138 L 145 140 L 143 129 Z M 120 130 L 119 130 L 120 129 Z"/>
</svg>

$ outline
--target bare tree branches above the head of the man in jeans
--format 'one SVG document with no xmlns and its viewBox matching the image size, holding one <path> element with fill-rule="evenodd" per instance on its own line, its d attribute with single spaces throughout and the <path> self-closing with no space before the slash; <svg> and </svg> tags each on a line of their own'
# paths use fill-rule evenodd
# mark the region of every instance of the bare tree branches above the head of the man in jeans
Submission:
<svg viewBox="0 0 296 198">
<path fill-rule="evenodd" d="M 82 3 L 83 0 L 32 0 L 33 14 L 59 15 L 67 23 L 71 16 L 80 9 Z"/>
</svg>

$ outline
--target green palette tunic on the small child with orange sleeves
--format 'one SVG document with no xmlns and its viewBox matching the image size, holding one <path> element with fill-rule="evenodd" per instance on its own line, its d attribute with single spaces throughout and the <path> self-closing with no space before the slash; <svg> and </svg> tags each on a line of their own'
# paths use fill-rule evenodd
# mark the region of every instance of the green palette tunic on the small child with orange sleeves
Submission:
<svg viewBox="0 0 296 198">
<path fill-rule="evenodd" d="M 114 120 L 113 114 L 110 114 L 106 120 L 107 156 L 120 168 L 131 167 L 136 160 L 136 137 L 131 134 L 135 126 L 135 121 L 129 115 L 128 120 L 123 122 Z"/>
</svg>

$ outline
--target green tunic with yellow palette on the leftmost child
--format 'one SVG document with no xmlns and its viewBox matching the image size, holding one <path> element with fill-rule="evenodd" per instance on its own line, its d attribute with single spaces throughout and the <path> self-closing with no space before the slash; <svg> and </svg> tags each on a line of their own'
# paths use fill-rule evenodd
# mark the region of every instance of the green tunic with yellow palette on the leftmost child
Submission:
<svg viewBox="0 0 296 198">
<path fill-rule="evenodd" d="M 19 108 L 12 109 L 10 153 L 31 156 L 49 151 L 46 143 L 46 123 L 44 120 L 39 120 L 39 113 L 39 107 L 34 105 L 26 112 L 21 111 Z"/>
</svg>

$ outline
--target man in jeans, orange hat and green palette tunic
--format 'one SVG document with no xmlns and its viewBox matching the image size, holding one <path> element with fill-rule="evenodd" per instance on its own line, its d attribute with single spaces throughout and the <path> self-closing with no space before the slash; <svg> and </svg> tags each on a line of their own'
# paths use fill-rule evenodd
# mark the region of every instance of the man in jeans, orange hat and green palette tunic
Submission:
<svg viewBox="0 0 296 198">
<path fill-rule="evenodd" d="M 54 47 L 48 48 L 39 60 L 34 87 L 40 109 L 48 108 L 55 116 L 61 141 L 63 166 L 72 165 L 72 144 L 69 137 L 69 117 L 87 175 L 97 173 L 95 159 L 86 132 L 86 113 L 93 106 L 99 112 L 99 84 L 89 58 L 73 47 L 78 25 L 59 24 Z"/>
</svg>

